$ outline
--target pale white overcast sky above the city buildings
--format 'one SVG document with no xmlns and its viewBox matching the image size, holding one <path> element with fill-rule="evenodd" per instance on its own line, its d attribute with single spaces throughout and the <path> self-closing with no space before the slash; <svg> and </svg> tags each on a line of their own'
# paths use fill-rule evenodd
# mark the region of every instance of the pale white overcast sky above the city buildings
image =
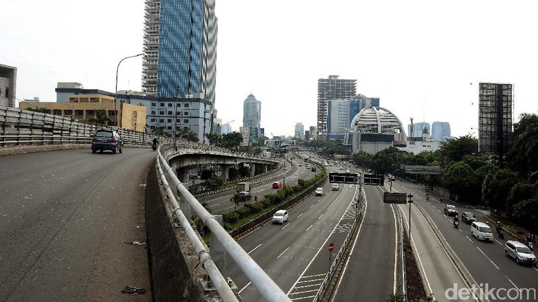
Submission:
<svg viewBox="0 0 538 302">
<path fill-rule="evenodd" d="M 143 0 L 3 1 L 0 63 L 17 67 L 17 98 L 55 101 L 57 82 L 114 91 L 121 58 L 142 51 Z M 317 80 L 357 79 L 404 127 L 478 125 L 478 83 L 514 84 L 515 118 L 538 113 L 538 1 L 217 1 L 216 108 L 242 126 L 261 101 L 266 135 L 317 122 Z M 141 90 L 141 58 L 121 63 L 118 89 Z M 409 133 L 408 133 L 409 134 Z"/>
</svg>

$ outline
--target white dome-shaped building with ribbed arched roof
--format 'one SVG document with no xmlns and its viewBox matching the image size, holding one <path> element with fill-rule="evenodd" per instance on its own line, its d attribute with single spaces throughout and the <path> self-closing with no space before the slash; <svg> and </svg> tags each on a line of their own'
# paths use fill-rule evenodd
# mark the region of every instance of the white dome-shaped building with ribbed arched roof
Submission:
<svg viewBox="0 0 538 302">
<path fill-rule="evenodd" d="M 393 142 L 405 142 L 406 131 L 397 116 L 381 107 L 367 107 L 351 121 L 353 153 L 375 154 Z"/>
</svg>

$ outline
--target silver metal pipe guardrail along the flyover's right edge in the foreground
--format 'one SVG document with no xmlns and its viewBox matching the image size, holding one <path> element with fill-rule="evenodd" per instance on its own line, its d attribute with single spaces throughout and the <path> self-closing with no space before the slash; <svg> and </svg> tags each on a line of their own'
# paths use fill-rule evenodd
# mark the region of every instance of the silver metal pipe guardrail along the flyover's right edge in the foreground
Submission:
<svg viewBox="0 0 538 302">
<path fill-rule="evenodd" d="M 177 179 L 174 171 L 168 166 L 168 162 L 166 161 L 165 157 L 161 153 L 161 151 L 164 151 L 166 153 L 166 149 L 170 149 L 173 147 L 170 146 L 160 146 L 159 152 L 158 152 L 158 158 L 159 162 L 162 166 L 164 166 L 164 170 L 166 173 L 168 173 L 168 179 L 171 180 L 172 184 L 168 184 L 166 182 L 167 177 L 162 177 L 164 186 L 167 188 L 167 191 L 169 188 L 173 187 L 176 188 L 177 194 L 179 195 L 179 198 L 181 199 L 181 202 L 185 202 L 188 204 L 190 209 L 194 210 L 196 215 L 198 215 L 203 222 L 205 226 L 207 226 L 211 230 L 211 235 L 215 236 L 219 242 L 222 244 L 228 255 L 234 259 L 235 263 L 237 263 L 237 266 L 243 271 L 244 274 L 246 274 L 246 277 L 252 282 L 253 285 L 259 290 L 260 294 L 267 300 L 267 301 L 274 301 L 274 302 L 280 302 L 280 301 L 291 301 L 286 293 L 284 293 L 281 288 L 278 287 L 277 283 L 275 281 L 272 281 L 270 277 L 266 274 L 266 272 L 263 271 L 259 267 L 259 265 L 247 254 L 239 244 L 237 244 L 237 241 L 233 239 L 226 230 L 217 222 L 215 217 L 213 217 L 206 208 L 203 208 L 203 206 L 197 201 L 197 199 L 190 194 L 190 192 L 183 186 L 181 182 Z M 176 216 L 183 220 L 182 217 L 184 217 L 183 212 L 179 208 L 179 203 L 175 199 L 175 195 L 169 194 L 168 197 L 170 198 L 170 201 L 172 202 L 172 206 L 174 206 L 174 212 Z M 183 206 L 182 206 L 183 207 Z M 183 222 L 182 222 L 183 225 Z M 188 222 L 185 223 L 184 227 L 186 227 L 186 230 L 190 228 L 190 224 Z M 190 228 L 192 229 L 192 228 Z M 191 233 L 189 235 L 189 233 Z M 208 268 L 212 268 L 213 262 L 210 257 L 202 257 L 208 255 L 207 251 L 202 248 L 201 241 L 199 237 L 196 234 L 192 234 L 192 232 L 188 232 L 188 237 L 190 242 L 192 243 L 195 248 L 197 248 L 197 252 L 200 257 L 200 263 L 202 264 L 203 268 L 206 268 L 205 262 L 208 262 Z M 207 270 L 207 268 L 206 268 Z M 225 281 L 222 275 L 220 274 L 210 274 L 210 271 L 208 271 L 208 275 L 212 281 L 212 283 L 215 283 L 219 286 L 217 290 L 219 290 L 219 294 L 221 294 L 221 297 L 224 299 L 228 296 L 228 283 L 226 283 L 226 287 L 223 285 L 223 282 Z M 224 296 L 223 296 L 224 295 Z M 235 297 L 234 297 L 235 298 Z M 233 300 L 230 300 L 233 301 Z"/>
</svg>

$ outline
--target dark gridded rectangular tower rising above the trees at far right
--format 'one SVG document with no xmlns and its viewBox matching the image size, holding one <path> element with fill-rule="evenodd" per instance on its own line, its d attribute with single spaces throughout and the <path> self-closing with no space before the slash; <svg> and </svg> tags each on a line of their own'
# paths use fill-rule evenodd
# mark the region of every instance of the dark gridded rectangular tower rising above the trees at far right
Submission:
<svg viewBox="0 0 538 302">
<path fill-rule="evenodd" d="M 501 165 L 512 139 L 512 96 L 512 84 L 479 84 L 478 151 L 499 155 Z"/>
</svg>

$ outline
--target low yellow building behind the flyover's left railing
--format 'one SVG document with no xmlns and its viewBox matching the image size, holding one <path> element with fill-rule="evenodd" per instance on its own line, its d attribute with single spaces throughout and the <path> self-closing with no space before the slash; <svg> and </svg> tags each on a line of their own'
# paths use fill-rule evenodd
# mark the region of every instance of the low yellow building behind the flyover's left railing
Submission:
<svg viewBox="0 0 538 302">
<path fill-rule="evenodd" d="M 68 102 L 21 102 L 19 107 L 21 109 L 43 108 L 47 114 L 88 122 L 96 118 L 96 111 L 104 109 L 106 115 L 114 122 L 118 117 L 120 128 L 141 132 L 146 129 L 146 106 L 114 103 L 113 96 L 104 94 L 70 94 Z"/>
</svg>

